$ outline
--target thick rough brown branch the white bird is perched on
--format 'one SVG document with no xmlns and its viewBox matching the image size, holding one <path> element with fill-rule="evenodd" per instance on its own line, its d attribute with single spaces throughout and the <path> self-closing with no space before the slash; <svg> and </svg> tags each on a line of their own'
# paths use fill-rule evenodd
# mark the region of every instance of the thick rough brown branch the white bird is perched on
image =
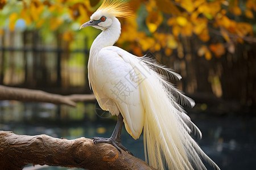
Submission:
<svg viewBox="0 0 256 170">
<path fill-rule="evenodd" d="M 48 135 L 16 135 L 0 131 L 0 167 L 22 169 L 27 164 L 77 167 L 84 169 L 154 169 L 108 143 L 92 139 L 57 139 Z"/>
</svg>

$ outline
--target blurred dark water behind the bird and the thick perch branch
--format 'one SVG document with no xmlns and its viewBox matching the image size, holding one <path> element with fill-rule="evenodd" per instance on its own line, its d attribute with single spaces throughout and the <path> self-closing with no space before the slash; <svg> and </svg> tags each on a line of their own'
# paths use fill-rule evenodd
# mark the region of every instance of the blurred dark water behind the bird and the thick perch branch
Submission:
<svg viewBox="0 0 256 170">
<path fill-rule="evenodd" d="M 0 130 L 66 139 L 110 137 L 116 119 L 107 112 L 95 112 L 96 109 L 95 103 L 79 103 L 71 108 L 48 103 L 0 101 Z M 196 141 L 221 169 L 256 169 L 255 117 L 206 116 L 197 110 L 189 116 L 203 133 L 203 139 Z M 135 141 L 123 128 L 122 143 L 134 156 L 144 160 L 142 135 Z"/>
</svg>

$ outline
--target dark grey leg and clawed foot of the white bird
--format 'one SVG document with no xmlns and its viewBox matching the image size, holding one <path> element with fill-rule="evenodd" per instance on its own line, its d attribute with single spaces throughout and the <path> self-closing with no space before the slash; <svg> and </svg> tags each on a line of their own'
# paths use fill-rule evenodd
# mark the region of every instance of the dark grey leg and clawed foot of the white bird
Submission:
<svg viewBox="0 0 256 170">
<path fill-rule="evenodd" d="M 110 143 L 112 144 L 119 152 L 121 152 L 121 148 L 128 152 L 129 154 L 133 155 L 127 148 L 125 148 L 121 143 L 121 132 L 122 132 L 122 124 L 123 124 L 123 117 L 122 114 L 118 114 L 117 116 L 117 124 L 115 125 L 115 129 L 110 138 L 99 138 L 94 137 L 93 143 Z"/>
</svg>

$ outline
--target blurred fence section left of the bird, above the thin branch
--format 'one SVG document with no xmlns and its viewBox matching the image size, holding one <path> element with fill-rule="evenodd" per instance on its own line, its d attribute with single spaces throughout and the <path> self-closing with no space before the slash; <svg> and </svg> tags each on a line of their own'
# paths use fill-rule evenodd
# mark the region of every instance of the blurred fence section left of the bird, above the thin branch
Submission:
<svg viewBox="0 0 256 170">
<path fill-rule="evenodd" d="M 69 50 L 58 33 L 51 44 L 43 44 L 38 31 L 5 31 L 0 37 L 0 84 L 64 93 L 89 91 L 88 54 L 88 49 Z"/>
</svg>

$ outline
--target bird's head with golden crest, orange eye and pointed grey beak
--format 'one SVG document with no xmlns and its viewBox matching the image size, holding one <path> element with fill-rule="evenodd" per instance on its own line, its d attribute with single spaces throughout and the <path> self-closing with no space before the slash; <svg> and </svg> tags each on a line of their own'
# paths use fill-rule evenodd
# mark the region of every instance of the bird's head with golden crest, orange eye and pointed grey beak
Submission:
<svg viewBox="0 0 256 170">
<path fill-rule="evenodd" d="M 90 16 L 90 21 L 81 25 L 81 28 L 92 26 L 98 29 L 108 29 L 115 17 L 128 18 L 133 13 L 126 1 L 123 0 L 104 0 L 96 12 Z"/>
</svg>

